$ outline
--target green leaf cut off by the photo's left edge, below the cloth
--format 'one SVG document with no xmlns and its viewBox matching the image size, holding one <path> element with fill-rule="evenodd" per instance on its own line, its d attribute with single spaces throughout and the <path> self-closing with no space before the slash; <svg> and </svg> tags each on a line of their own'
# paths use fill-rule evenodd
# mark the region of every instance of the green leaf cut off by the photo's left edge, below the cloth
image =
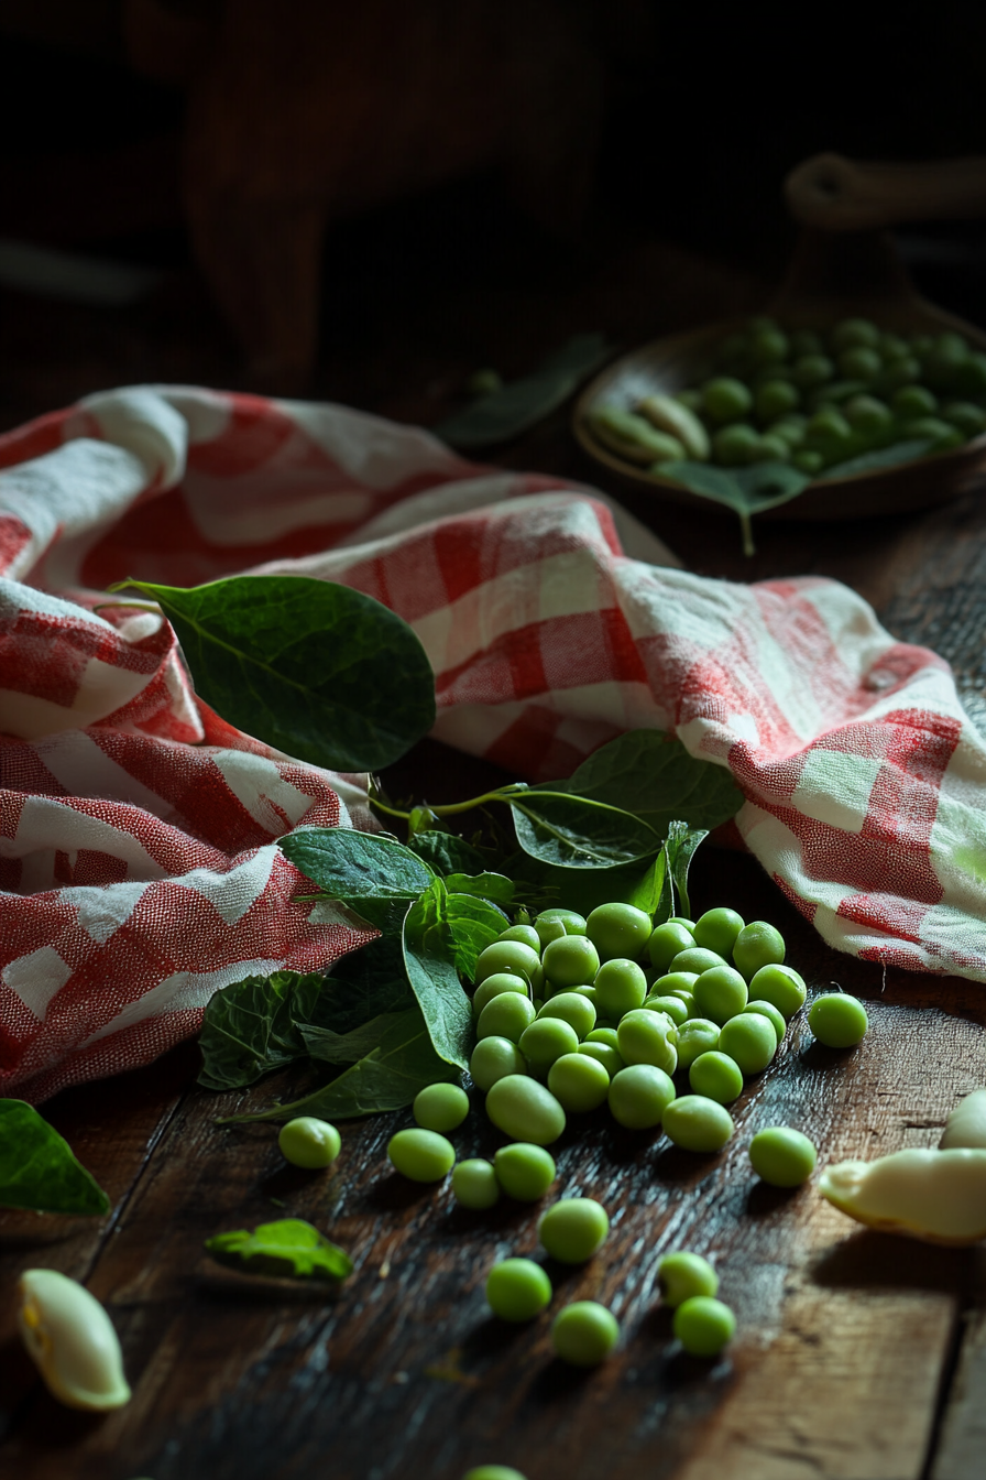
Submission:
<svg viewBox="0 0 986 1480">
<path fill-rule="evenodd" d="M 0 1206 L 95 1217 L 109 1199 L 34 1106 L 0 1100 Z"/>
</svg>

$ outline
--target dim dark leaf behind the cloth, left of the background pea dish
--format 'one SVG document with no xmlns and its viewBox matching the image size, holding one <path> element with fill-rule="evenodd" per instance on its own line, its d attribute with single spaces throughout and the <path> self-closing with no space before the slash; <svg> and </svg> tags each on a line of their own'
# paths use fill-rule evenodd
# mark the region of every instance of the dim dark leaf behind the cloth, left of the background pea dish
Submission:
<svg viewBox="0 0 986 1480">
<path fill-rule="evenodd" d="M 451 447 L 492 447 L 550 416 L 611 354 L 603 334 L 575 334 L 520 380 L 477 397 L 435 428 Z"/>
</svg>

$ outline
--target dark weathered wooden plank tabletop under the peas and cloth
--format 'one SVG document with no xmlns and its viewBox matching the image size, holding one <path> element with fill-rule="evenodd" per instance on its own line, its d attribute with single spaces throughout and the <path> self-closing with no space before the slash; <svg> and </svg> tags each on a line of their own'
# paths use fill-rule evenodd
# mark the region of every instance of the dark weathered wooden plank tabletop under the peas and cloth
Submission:
<svg viewBox="0 0 986 1480">
<path fill-rule="evenodd" d="M 368 281 L 373 263 L 365 272 Z M 526 278 L 504 269 L 477 286 L 426 271 L 417 286 L 414 295 L 395 289 L 387 311 L 367 311 L 359 324 L 340 311 L 316 395 L 435 422 L 479 363 L 519 371 L 566 333 L 597 326 L 633 343 L 744 312 L 769 290 L 612 226 L 588 258 L 554 272 L 545 258 Z M 353 293 L 364 292 L 353 266 Z M 163 295 L 112 323 L 4 295 L 6 425 L 98 385 L 238 383 L 194 280 L 176 274 Z M 367 308 L 370 296 L 359 300 Z M 597 477 L 565 416 L 500 457 Z M 752 559 L 726 515 L 695 519 L 642 496 L 627 502 L 704 574 L 846 580 L 896 636 L 948 657 L 970 709 L 986 716 L 980 496 L 928 515 L 763 524 Z M 426 744 L 399 776 L 441 801 L 466 795 L 479 768 Z M 704 850 L 693 876 L 698 910 L 729 903 L 775 921 L 810 987 L 837 981 L 859 993 L 872 1029 L 857 1051 L 831 1054 L 807 1046 L 795 1023 L 778 1061 L 745 1091 L 721 1156 L 676 1151 L 605 1116 L 572 1117 L 551 1196 L 599 1197 L 612 1233 L 588 1265 L 553 1273 L 559 1301 L 599 1298 L 619 1316 L 624 1339 L 611 1362 L 585 1375 L 562 1369 L 547 1317 L 509 1329 L 488 1314 L 485 1273 L 497 1257 L 537 1249 L 537 1208 L 464 1214 L 448 1185 L 404 1184 L 384 1147 L 405 1114 L 344 1125 L 327 1174 L 285 1169 L 272 1128 L 214 1123 L 266 1101 L 278 1082 L 211 1095 L 195 1086 L 197 1052 L 186 1045 L 46 1107 L 114 1209 L 103 1221 L 0 1215 L 0 1476 L 458 1480 L 497 1461 L 528 1480 L 979 1480 L 983 1249 L 862 1231 L 812 1185 L 757 1185 L 745 1146 L 778 1120 L 816 1137 L 825 1160 L 933 1146 L 956 1100 L 986 1077 L 983 989 L 894 971 L 884 978 L 826 950 L 745 855 Z M 460 1154 L 497 1144 L 479 1106 L 454 1140 Z M 337 1295 L 237 1280 L 204 1257 L 211 1233 L 287 1214 L 310 1218 L 353 1254 L 356 1270 Z M 715 1258 L 738 1313 L 736 1341 L 713 1365 L 674 1350 L 658 1304 L 658 1259 L 681 1246 Z M 106 1302 L 135 1391 L 120 1412 L 71 1413 L 35 1379 L 15 1335 L 12 1292 L 18 1271 L 38 1264 L 84 1279 Z"/>
</svg>

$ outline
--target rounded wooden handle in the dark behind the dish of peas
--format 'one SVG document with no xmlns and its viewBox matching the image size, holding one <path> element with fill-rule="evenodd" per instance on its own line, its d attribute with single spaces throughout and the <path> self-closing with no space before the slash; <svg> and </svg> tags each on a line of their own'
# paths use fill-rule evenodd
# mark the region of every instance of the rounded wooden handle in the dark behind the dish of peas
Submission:
<svg viewBox="0 0 986 1480">
<path fill-rule="evenodd" d="M 986 158 L 860 164 L 815 154 L 783 182 L 795 221 L 825 231 L 874 231 L 905 221 L 986 216 Z"/>
</svg>

